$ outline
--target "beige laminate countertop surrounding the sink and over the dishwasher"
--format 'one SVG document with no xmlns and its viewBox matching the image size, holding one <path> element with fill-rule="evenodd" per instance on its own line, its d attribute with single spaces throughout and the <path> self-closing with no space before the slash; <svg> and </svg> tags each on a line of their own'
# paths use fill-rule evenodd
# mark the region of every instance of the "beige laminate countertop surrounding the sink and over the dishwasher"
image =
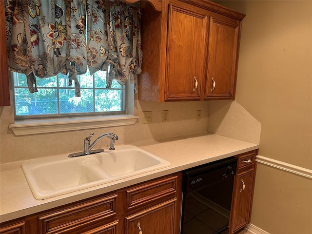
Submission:
<svg viewBox="0 0 312 234">
<path fill-rule="evenodd" d="M 44 200 L 34 198 L 21 169 L 22 162 L 2 164 L 0 168 L 0 222 L 108 193 L 259 148 L 257 144 L 209 133 L 200 136 L 179 137 L 164 142 L 138 143 L 136 146 L 169 161 L 171 166 Z M 117 147 L 118 144 L 116 144 Z"/>
</svg>

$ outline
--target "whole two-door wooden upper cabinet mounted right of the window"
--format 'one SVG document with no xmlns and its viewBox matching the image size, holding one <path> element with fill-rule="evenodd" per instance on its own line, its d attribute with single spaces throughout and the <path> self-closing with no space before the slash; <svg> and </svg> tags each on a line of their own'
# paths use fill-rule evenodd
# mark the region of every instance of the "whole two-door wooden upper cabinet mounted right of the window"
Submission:
<svg viewBox="0 0 312 234">
<path fill-rule="evenodd" d="M 208 0 L 163 0 L 161 12 L 144 4 L 138 99 L 234 99 L 244 17 Z"/>
</svg>

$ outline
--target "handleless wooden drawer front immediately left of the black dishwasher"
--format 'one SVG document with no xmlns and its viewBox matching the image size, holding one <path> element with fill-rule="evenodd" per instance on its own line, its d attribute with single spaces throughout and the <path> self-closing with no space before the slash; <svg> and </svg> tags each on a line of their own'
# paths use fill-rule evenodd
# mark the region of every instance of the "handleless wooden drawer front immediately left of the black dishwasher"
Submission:
<svg viewBox="0 0 312 234">
<path fill-rule="evenodd" d="M 134 208 L 143 208 L 146 205 L 152 206 L 176 197 L 177 176 L 170 176 L 155 182 L 148 182 L 138 187 L 126 191 L 126 209 L 127 211 Z"/>
</svg>

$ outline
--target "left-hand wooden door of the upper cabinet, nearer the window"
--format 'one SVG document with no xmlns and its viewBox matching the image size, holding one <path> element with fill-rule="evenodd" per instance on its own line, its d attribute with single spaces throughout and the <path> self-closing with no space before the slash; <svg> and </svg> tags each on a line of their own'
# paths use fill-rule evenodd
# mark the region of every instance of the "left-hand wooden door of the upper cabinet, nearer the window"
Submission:
<svg viewBox="0 0 312 234">
<path fill-rule="evenodd" d="M 169 5 L 165 100 L 199 100 L 205 77 L 208 17 L 179 2 Z M 197 86 L 196 86 L 197 85 Z"/>
</svg>

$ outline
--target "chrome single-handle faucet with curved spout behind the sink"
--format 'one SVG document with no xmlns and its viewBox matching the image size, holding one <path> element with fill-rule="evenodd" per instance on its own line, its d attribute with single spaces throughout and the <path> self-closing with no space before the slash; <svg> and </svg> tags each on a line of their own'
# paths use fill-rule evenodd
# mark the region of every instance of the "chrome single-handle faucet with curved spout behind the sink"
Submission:
<svg viewBox="0 0 312 234">
<path fill-rule="evenodd" d="M 92 150 L 92 148 L 98 143 L 98 141 L 102 137 L 108 137 L 111 140 L 111 145 L 109 150 L 115 150 L 114 144 L 115 141 L 118 140 L 118 137 L 114 133 L 104 133 L 101 136 L 99 136 L 92 144 L 90 144 L 90 138 L 94 136 L 94 133 L 91 133 L 89 137 L 84 138 L 84 150 L 83 152 L 78 152 L 74 154 L 70 154 L 69 157 L 78 157 L 78 156 L 84 156 L 84 155 L 91 155 L 91 154 L 96 154 L 103 152 L 103 149 L 98 149 L 98 150 Z"/>
</svg>

